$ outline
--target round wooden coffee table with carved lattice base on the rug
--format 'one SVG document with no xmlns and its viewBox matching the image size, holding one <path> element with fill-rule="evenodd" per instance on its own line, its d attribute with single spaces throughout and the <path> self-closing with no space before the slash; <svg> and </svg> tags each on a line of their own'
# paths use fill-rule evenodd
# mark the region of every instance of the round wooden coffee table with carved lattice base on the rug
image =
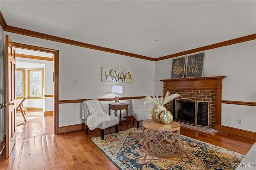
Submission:
<svg viewBox="0 0 256 170">
<path fill-rule="evenodd" d="M 180 153 L 180 124 L 156 123 L 153 119 L 142 122 L 144 147 L 151 156 L 172 158 Z"/>
</svg>

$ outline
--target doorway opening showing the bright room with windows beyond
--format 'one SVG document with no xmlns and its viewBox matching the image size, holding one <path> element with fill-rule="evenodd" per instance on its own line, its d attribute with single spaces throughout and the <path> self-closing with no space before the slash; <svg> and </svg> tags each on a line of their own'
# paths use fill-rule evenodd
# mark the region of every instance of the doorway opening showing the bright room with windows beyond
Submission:
<svg viewBox="0 0 256 170">
<path fill-rule="evenodd" d="M 54 133 L 53 72 L 52 53 L 16 47 L 16 140 Z"/>
</svg>

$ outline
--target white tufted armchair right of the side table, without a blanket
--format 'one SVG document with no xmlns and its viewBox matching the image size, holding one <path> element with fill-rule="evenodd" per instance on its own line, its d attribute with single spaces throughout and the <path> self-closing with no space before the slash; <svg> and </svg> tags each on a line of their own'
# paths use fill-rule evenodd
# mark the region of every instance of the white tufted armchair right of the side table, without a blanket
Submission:
<svg viewBox="0 0 256 170">
<path fill-rule="evenodd" d="M 137 121 L 137 128 L 139 128 L 139 122 L 151 118 L 151 111 L 154 107 L 154 103 L 147 103 L 144 105 L 146 99 L 132 99 L 132 115 L 133 123 L 134 119 Z"/>
</svg>

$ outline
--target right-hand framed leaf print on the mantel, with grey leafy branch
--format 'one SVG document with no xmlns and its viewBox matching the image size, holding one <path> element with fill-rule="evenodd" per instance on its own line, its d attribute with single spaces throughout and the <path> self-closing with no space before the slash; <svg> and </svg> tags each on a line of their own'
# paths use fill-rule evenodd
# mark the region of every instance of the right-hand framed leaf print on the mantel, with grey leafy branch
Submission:
<svg viewBox="0 0 256 170">
<path fill-rule="evenodd" d="M 186 77 L 203 77 L 204 72 L 204 53 L 188 56 Z"/>
</svg>

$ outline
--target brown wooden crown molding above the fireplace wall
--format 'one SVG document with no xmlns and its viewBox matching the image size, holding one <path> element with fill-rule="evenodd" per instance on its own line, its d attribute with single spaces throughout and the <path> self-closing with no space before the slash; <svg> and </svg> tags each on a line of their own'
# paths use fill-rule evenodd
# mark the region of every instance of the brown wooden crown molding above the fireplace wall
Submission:
<svg viewBox="0 0 256 170">
<path fill-rule="evenodd" d="M 187 50 L 187 51 L 182 51 L 180 53 L 175 53 L 175 54 L 166 55 L 166 56 L 163 56 L 163 57 L 158 57 L 158 58 L 156 58 L 155 61 L 159 61 L 159 60 L 163 60 L 163 59 L 169 59 L 169 58 L 178 57 L 178 56 L 181 56 L 181 55 L 187 55 L 187 54 L 191 54 L 191 53 L 197 53 L 197 52 L 200 52 L 200 51 L 205 51 L 205 50 L 208 50 L 208 49 L 223 47 L 223 46 L 226 46 L 226 45 L 232 45 L 232 44 L 235 44 L 235 43 L 247 42 L 247 41 L 250 41 L 250 40 L 256 40 L 256 34 L 251 34 L 251 35 L 248 35 L 248 36 L 235 38 L 235 39 L 227 40 L 227 41 L 224 41 L 224 42 L 214 43 L 214 44 L 211 44 L 211 45 L 206 45 L 206 46 L 203 46 L 203 47 L 194 48 L 194 49 L 190 49 L 190 50 Z"/>
</svg>

